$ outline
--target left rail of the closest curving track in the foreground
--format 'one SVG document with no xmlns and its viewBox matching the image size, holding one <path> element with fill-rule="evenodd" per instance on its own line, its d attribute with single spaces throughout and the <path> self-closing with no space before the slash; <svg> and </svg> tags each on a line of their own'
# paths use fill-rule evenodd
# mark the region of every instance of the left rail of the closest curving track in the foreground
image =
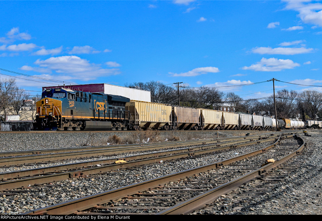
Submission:
<svg viewBox="0 0 322 221">
<path fill-rule="evenodd" d="M 159 185 L 164 185 L 168 182 L 185 179 L 187 177 L 193 176 L 193 175 L 201 173 L 201 172 L 216 169 L 218 167 L 221 167 L 224 164 L 229 164 L 233 161 L 239 161 L 241 159 L 245 159 L 247 157 L 259 154 L 271 147 L 276 146 L 277 143 L 279 143 L 279 140 L 280 140 L 280 137 L 277 139 L 277 141 L 275 143 L 273 143 L 267 147 L 264 147 L 260 150 L 246 153 L 246 154 L 243 154 L 240 156 L 236 156 L 236 157 L 224 160 L 224 161 L 219 161 L 219 162 L 203 165 L 200 167 L 192 168 L 189 170 L 184 170 L 184 171 L 180 171 L 177 173 L 165 175 L 162 177 L 157 177 L 154 179 L 142 181 L 139 183 L 130 184 L 128 186 L 120 187 L 117 189 L 112 189 L 112 190 L 105 191 L 102 193 L 93 194 L 93 195 L 90 195 L 87 197 L 82 197 L 82 198 L 70 200 L 67 202 L 62 202 L 62 203 L 59 203 L 56 205 L 43 207 L 43 208 L 39 208 L 39 209 L 34 209 L 29 212 L 23 213 L 23 215 L 30 215 L 30 214 L 33 214 L 33 215 L 56 214 L 56 215 L 58 215 L 58 214 L 76 213 L 81 210 L 89 209 L 91 207 L 95 207 L 97 205 L 107 203 L 110 200 L 115 200 L 118 198 L 127 197 L 130 195 L 136 194 L 137 192 L 140 192 L 140 191 L 155 188 Z"/>
</svg>

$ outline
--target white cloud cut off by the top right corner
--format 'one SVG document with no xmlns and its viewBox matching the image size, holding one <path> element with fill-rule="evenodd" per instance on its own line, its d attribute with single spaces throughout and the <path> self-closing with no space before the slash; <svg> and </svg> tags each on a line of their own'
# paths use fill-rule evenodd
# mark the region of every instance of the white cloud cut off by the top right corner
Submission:
<svg viewBox="0 0 322 221">
<path fill-rule="evenodd" d="M 322 27 L 322 4 L 310 1 L 288 1 L 285 7 L 288 10 L 297 11 L 298 17 L 304 23 L 315 24 Z"/>
</svg>

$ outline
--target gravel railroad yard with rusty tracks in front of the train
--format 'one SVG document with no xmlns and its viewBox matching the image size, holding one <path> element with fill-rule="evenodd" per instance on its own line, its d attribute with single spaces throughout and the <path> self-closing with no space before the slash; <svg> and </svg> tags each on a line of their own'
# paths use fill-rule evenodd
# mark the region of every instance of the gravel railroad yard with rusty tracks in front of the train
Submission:
<svg viewBox="0 0 322 221">
<path fill-rule="evenodd" d="M 321 214 L 322 131 L 308 134 L 1 133 L 0 213 Z"/>
</svg>

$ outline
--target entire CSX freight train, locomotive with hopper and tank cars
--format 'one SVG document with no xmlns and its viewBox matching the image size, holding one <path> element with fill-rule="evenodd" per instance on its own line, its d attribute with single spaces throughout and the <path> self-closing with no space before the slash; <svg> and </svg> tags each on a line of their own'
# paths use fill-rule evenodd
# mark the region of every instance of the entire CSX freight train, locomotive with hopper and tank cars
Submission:
<svg viewBox="0 0 322 221">
<path fill-rule="evenodd" d="M 284 123 L 283 123 L 284 122 Z M 278 120 L 280 128 L 302 128 Z M 103 93 L 50 88 L 36 102 L 34 130 L 211 130 L 269 129 L 275 119 L 219 110 L 130 100 Z"/>
</svg>

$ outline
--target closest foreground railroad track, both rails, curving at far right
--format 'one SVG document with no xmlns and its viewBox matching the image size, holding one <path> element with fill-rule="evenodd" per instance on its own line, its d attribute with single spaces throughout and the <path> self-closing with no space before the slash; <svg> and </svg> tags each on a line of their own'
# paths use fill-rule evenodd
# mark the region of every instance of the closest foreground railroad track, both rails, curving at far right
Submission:
<svg viewBox="0 0 322 221">
<path fill-rule="evenodd" d="M 115 214 L 117 214 L 120 209 L 122 210 L 124 209 L 124 206 L 128 205 L 134 205 L 134 207 L 125 209 L 126 211 L 130 211 L 131 214 L 137 213 L 137 211 L 140 209 L 140 211 L 152 211 L 152 213 L 156 213 L 158 210 L 163 210 L 158 214 L 187 214 L 203 207 L 204 203 L 210 203 L 218 194 L 220 196 L 223 193 L 230 192 L 232 189 L 236 189 L 244 182 L 248 182 L 249 180 L 254 179 L 254 177 L 260 177 L 266 171 L 296 155 L 304 146 L 304 143 L 301 143 L 303 141 L 300 138 L 298 139 L 300 141 L 297 143 L 297 145 L 289 146 L 292 148 L 279 148 L 276 146 L 279 142 L 278 140 L 268 147 L 227 160 L 218 161 L 190 170 L 180 171 L 171 175 L 165 175 L 125 187 L 112 189 L 103 193 L 60 203 L 58 205 L 35 209 L 25 214 L 89 214 L 89 212 L 99 212 L 104 214 L 115 212 Z M 252 161 L 242 160 L 257 154 L 258 156 L 253 158 Z M 272 156 L 278 160 L 275 163 L 270 163 L 260 167 L 264 160 L 271 158 Z M 234 163 L 236 161 L 241 163 Z M 247 166 L 245 167 L 246 164 Z M 236 169 L 236 167 L 239 167 L 239 169 Z M 196 176 L 196 174 L 199 176 Z M 218 178 L 219 175 L 222 175 L 221 178 Z M 152 188 L 157 189 L 151 190 Z M 144 192 L 147 189 L 150 189 L 148 190 L 149 192 Z M 180 191 L 177 191 L 178 193 L 176 193 L 176 190 L 178 189 L 180 189 Z M 191 194 L 183 193 L 184 191 L 189 192 L 189 189 L 190 192 L 192 192 Z M 158 194 L 156 194 L 156 191 Z M 139 194 L 135 195 L 137 193 Z M 185 198 L 190 199 L 184 201 L 183 203 L 178 203 L 177 199 L 182 195 L 184 195 L 184 197 L 180 198 L 180 200 L 185 200 Z M 123 197 L 126 198 L 120 199 Z M 140 198 L 142 201 L 138 202 L 138 198 Z M 146 199 L 148 199 L 149 202 L 144 203 Z M 111 200 L 116 201 L 111 202 Z M 126 203 L 122 204 L 122 202 Z M 101 206 L 98 207 L 97 204 L 100 204 Z M 167 209 L 164 208 L 164 205 L 166 204 L 170 206 Z M 175 204 L 175 206 L 172 204 Z M 157 207 L 157 205 L 159 205 L 159 207 Z M 160 207 L 160 205 L 163 205 L 163 207 Z M 87 211 L 79 212 L 81 210 Z"/>
</svg>

